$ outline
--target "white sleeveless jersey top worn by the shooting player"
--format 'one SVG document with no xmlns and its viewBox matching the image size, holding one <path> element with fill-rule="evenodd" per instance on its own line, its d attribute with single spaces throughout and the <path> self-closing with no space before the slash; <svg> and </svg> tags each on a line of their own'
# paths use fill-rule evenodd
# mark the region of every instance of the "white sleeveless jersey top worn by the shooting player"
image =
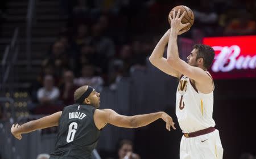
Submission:
<svg viewBox="0 0 256 159">
<path fill-rule="evenodd" d="M 176 115 L 181 130 L 189 133 L 214 127 L 212 113 L 213 92 L 199 92 L 191 79 L 182 75 L 176 92 Z"/>
</svg>

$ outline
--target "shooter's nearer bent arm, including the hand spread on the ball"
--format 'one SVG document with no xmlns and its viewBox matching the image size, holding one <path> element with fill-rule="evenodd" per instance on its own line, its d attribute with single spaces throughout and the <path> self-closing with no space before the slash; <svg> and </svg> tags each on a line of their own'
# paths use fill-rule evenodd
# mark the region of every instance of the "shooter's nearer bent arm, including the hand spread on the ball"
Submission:
<svg viewBox="0 0 256 159">
<path fill-rule="evenodd" d="M 188 65 L 188 63 L 184 62 L 182 59 L 179 58 L 179 51 L 177 48 L 177 35 L 179 31 L 186 27 L 187 24 L 182 24 L 181 19 L 185 15 L 185 12 L 183 15 L 180 16 L 180 10 L 177 12 L 177 15 L 175 16 L 175 11 L 173 19 L 171 18 L 171 32 L 169 37 L 169 44 L 167 48 L 167 63 L 174 68 L 175 70 L 179 71 L 181 74 L 188 76 L 189 78 L 197 81 L 197 82 L 204 82 L 204 81 L 211 81 L 209 75 L 205 73 L 205 71 L 199 67 L 194 67 Z"/>
</svg>

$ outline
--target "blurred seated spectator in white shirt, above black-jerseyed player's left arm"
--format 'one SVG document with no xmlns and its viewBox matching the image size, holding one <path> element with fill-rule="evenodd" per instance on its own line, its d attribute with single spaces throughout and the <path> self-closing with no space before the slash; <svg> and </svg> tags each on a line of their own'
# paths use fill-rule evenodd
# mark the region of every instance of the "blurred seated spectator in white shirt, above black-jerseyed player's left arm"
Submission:
<svg viewBox="0 0 256 159">
<path fill-rule="evenodd" d="M 44 77 L 44 85 L 37 92 L 38 101 L 41 105 L 56 104 L 60 91 L 54 87 L 54 80 L 51 75 Z"/>
</svg>

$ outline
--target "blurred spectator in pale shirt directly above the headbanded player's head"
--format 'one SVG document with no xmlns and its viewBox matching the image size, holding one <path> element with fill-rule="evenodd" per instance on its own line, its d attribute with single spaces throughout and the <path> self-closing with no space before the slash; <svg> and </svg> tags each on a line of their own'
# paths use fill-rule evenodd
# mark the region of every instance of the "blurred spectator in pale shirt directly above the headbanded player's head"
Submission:
<svg viewBox="0 0 256 159">
<path fill-rule="evenodd" d="M 100 92 L 104 84 L 101 76 L 96 75 L 96 67 L 92 64 L 86 64 L 81 68 L 81 76 L 74 80 L 77 87 L 82 85 L 91 85 L 96 91 Z"/>
</svg>

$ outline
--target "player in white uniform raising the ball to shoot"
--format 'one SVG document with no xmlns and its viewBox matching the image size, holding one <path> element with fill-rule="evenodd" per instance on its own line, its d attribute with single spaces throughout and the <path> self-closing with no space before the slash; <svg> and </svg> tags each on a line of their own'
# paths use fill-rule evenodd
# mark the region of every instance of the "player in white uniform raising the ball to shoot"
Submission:
<svg viewBox="0 0 256 159">
<path fill-rule="evenodd" d="M 150 62 L 168 75 L 179 78 L 176 92 L 176 115 L 184 135 L 180 143 L 181 159 L 220 159 L 223 148 L 218 130 L 214 128 L 212 76 L 207 71 L 214 59 L 214 50 L 197 44 L 187 57 L 187 63 L 179 58 L 177 35 L 189 25 L 182 24 L 180 10 L 170 15 L 169 29 L 155 46 Z M 163 57 L 167 45 L 167 58 Z"/>
</svg>

